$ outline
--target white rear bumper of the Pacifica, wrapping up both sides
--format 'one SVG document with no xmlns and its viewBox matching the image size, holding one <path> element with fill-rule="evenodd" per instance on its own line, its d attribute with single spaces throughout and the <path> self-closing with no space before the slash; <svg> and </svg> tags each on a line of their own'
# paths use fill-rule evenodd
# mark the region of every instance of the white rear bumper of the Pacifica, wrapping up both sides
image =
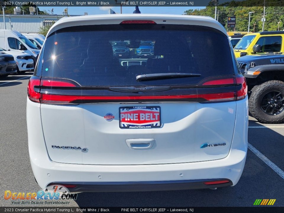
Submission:
<svg viewBox="0 0 284 213">
<path fill-rule="evenodd" d="M 135 191 L 141 191 L 141 184 L 145 182 L 148 183 L 148 188 L 153 187 L 153 190 L 159 190 L 161 185 L 157 184 L 164 181 L 174 181 L 167 182 L 169 184 L 164 185 L 169 186 L 167 190 L 204 188 L 203 183 L 200 182 L 212 179 L 228 179 L 230 185 L 235 185 L 241 177 L 246 161 L 248 99 L 236 102 L 235 130 L 229 154 L 225 158 L 176 164 L 88 165 L 51 161 L 43 136 L 40 104 L 28 99 L 28 143 L 34 176 L 41 188 L 45 188 L 50 183 L 83 183 L 80 184 L 83 186 L 78 188 L 78 190 L 82 191 L 116 191 L 123 189 L 125 189 L 123 191 L 129 191 L 129 187 L 125 186 L 127 185 L 125 183 L 129 182 L 135 182 L 135 185 L 138 185 L 138 188 L 133 187 L 136 188 Z M 185 181 L 185 183 L 182 181 Z M 117 185 L 112 184 L 114 182 L 123 186 L 117 188 Z M 154 187 L 153 184 L 157 186 Z M 172 186 L 173 184 L 177 185 Z M 108 186 L 105 188 L 103 187 L 105 185 Z M 214 185 L 206 186 L 206 188 L 214 188 Z"/>
</svg>

